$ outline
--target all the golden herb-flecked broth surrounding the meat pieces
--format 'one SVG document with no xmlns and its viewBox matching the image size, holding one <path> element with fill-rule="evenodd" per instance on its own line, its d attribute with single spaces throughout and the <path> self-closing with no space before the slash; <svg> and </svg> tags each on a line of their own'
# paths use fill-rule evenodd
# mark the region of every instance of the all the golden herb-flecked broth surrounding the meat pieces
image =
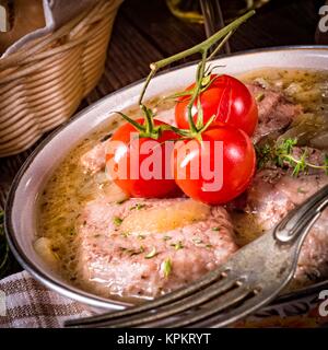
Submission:
<svg viewBox="0 0 328 350">
<path fill-rule="evenodd" d="M 267 69 L 244 74 L 242 80 L 245 82 L 258 80 L 262 84 L 269 84 L 279 91 L 284 91 L 289 100 L 302 104 L 306 113 L 318 117 L 318 120 L 313 117 L 308 120 L 320 122 L 323 113 L 327 113 L 323 109 L 323 106 L 328 98 L 328 73 L 308 70 Z M 172 121 L 174 102 L 161 103 L 160 101 L 156 98 L 149 104 L 155 106 L 161 116 L 160 119 L 171 119 L 169 121 Z M 125 110 L 125 113 L 132 117 L 140 117 L 138 108 Z M 38 252 L 50 252 L 49 254 L 52 252 L 54 256 L 49 258 L 49 264 L 54 264 L 54 268 L 75 285 L 80 285 L 77 279 L 75 254 L 79 242 L 77 240 L 75 222 L 85 202 L 101 196 L 110 186 L 110 183 L 104 178 L 103 173 L 86 173 L 80 159 L 101 140 L 108 137 L 108 133 L 113 132 L 121 122 L 119 120 L 107 122 L 75 147 L 51 175 L 38 199 L 38 237 L 45 237 L 48 241 L 40 242 L 40 246 L 36 249 Z M 319 131 L 321 132 L 321 130 Z M 316 132 L 319 131 L 316 128 Z M 254 217 L 250 214 L 235 213 L 233 220 L 239 245 L 247 244 L 262 233 L 261 228 L 255 228 Z M 45 249 L 46 245 L 47 249 Z"/>
</svg>

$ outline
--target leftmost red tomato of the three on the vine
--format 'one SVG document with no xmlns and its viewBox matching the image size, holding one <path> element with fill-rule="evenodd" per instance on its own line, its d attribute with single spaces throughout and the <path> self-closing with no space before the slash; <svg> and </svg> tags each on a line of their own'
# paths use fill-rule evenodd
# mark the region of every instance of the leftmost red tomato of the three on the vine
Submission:
<svg viewBox="0 0 328 350">
<path fill-rule="evenodd" d="M 137 121 L 143 124 L 143 119 Z M 166 124 L 154 120 L 154 125 Z M 177 138 L 173 131 L 163 131 L 156 140 L 139 138 L 137 129 L 127 122 L 118 128 L 110 139 L 106 168 L 114 182 L 131 197 L 173 196 L 178 191 L 171 171 L 174 142 L 167 141 Z M 166 143 L 172 145 L 171 153 L 165 152 Z"/>
</svg>

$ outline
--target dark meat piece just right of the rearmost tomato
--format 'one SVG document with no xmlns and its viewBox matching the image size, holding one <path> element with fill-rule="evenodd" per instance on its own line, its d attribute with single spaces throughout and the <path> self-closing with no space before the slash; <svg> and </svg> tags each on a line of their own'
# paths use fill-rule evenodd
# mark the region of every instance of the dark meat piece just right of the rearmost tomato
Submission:
<svg viewBox="0 0 328 350">
<path fill-rule="evenodd" d="M 247 84 L 247 88 L 257 100 L 259 112 L 259 122 L 253 136 L 255 143 L 272 132 L 279 136 L 302 112 L 301 106 L 290 103 L 280 92 L 258 83 Z"/>
</svg>

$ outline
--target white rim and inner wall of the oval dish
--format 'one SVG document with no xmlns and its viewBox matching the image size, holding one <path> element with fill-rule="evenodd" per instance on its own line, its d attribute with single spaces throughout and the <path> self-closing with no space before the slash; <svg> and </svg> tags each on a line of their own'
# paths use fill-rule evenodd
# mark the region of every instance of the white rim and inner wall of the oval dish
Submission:
<svg viewBox="0 0 328 350">
<path fill-rule="evenodd" d="M 274 67 L 327 69 L 328 46 L 247 51 L 216 59 L 214 65 L 224 66 L 221 72 L 230 74 Z M 147 96 L 156 96 L 163 91 L 188 85 L 194 79 L 195 69 L 195 65 L 188 65 L 157 75 L 149 86 Z M 85 293 L 49 270 L 33 248 L 37 221 L 36 198 L 51 172 L 68 152 L 93 129 L 108 120 L 109 110 L 120 110 L 136 104 L 141 86 L 142 82 L 138 82 L 104 97 L 49 136 L 28 158 L 9 195 L 5 230 L 17 260 L 48 288 L 92 306 L 117 310 L 127 304 Z"/>
</svg>

